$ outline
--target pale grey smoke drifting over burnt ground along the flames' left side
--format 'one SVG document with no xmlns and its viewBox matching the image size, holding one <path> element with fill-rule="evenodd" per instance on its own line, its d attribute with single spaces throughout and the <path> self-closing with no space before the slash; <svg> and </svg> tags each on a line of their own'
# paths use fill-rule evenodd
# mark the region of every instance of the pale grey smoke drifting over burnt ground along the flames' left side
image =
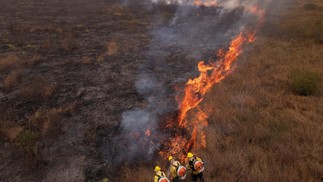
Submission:
<svg viewBox="0 0 323 182">
<path fill-rule="evenodd" d="M 152 17 L 151 41 L 145 63 L 134 83 L 144 105 L 122 114 L 121 159 L 150 159 L 167 138 L 159 129 L 164 115 L 178 108 L 175 97 L 182 94 L 174 85 L 184 86 L 197 74 L 201 59 L 215 60 L 219 48 L 227 47 L 241 31 L 257 26 L 251 6 L 266 8 L 271 0 L 218 0 L 219 6 L 195 6 L 194 0 L 141 1 L 157 9 Z M 123 1 L 129 5 L 129 1 Z M 134 3 L 134 2 L 132 2 Z M 181 90 L 181 89 L 180 89 Z M 149 134 L 147 131 L 149 130 Z M 120 140 L 119 140 L 120 141 Z M 121 151 L 118 149 L 118 151 Z"/>
</svg>

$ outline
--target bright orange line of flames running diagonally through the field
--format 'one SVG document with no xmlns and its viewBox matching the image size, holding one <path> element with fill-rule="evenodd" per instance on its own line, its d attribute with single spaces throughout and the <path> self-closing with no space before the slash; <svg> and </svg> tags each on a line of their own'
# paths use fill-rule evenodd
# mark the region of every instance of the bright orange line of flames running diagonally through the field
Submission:
<svg viewBox="0 0 323 182">
<path fill-rule="evenodd" d="M 216 1 L 195 0 L 195 4 L 216 5 L 217 3 Z M 162 156 L 173 155 L 184 161 L 187 152 L 206 148 L 205 127 L 208 125 L 208 115 L 200 107 L 200 103 L 212 86 L 226 78 L 236 68 L 234 63 L 242 53 L 243 46 L 255 41 L 257 29 L 264 22 L 265 11 L 263 9 L 250 6 L 246 7 L 246 11 L 258 17 L 256 30 L 242 31 L 231 41 L 227 50 L 218 51 L 216 61 L 198 63 L 199 76 L 187 81 L 183 97 L 178 99 L 177 118 L 166 124 L 166 128 L 172 129 L 174 134 L 163 143 L 164 147 L 160 151 Z"/>
</svg>

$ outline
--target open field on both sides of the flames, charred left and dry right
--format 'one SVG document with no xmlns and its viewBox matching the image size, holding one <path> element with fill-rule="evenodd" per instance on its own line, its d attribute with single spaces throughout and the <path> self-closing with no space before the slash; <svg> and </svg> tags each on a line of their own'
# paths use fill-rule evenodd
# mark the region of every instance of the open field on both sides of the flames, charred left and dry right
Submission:
<svg viewBox="0 0 323 182">
<path fill-rule="evenodd" d="M 167 164 L 129 157 L 124 113 L 148 105 L 174 114 L 176 89 L 228 44 L 220 33 L 241 16 L 212 22 L 218 9 L 197 8 L 172 32 L 174 6 L 0 3 L 0 181 L 152 181 L 154 165 Z M 207 93 L 207 147 L 194 151 L 206 181 L 323 181 L 322 7 L 298 0 L 270 11 L 236 70 Z M 159 36 L 183 32 L 189 38 Z M 159 81 L 149 93 L 147 75 Z"/>
</svg>

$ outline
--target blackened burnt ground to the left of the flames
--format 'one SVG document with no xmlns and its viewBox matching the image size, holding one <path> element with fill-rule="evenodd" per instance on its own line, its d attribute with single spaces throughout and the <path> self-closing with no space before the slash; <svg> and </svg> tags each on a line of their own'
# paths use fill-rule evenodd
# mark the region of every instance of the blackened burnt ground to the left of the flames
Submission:
<svg viewBox="0 0 323 182">
<path fill-rule="evenodd" d="M 172 25 L 176 6 L 103 0 L 0 3 L 0 56 L 14 62 L 0 69 L 0 181 L 96 181 L 107 174 L 114 179 L 118 173 L 110 166 L 127 149 L 122 139 L 116 141 L 122 113 L 149 104 L 135 85 L 141 73 L 153 74 L 166 88 L 166 97 L 157 99 L 169 108 L 165 112 L 176 110 L 174 88 L 197 74 L 199 59 L 215 57 L 241 16 L 237 9 L 210 22 L 208 17 L 219 12 L 200 7 L 183 11 L 186 19 Z M 192 27 L 205 20 L 207 28 Z M 19 75 L 8 86 L 5 80 L 14 71 Z M 58 110 L 55 117 L 53 110 Z M 44 116 L 35 124 L 37 113 Z M 5 134 L 10 127 L 37 134 L 27 141 L 32 150 L 19 145 L 21 133 Z"/>
</svg>

